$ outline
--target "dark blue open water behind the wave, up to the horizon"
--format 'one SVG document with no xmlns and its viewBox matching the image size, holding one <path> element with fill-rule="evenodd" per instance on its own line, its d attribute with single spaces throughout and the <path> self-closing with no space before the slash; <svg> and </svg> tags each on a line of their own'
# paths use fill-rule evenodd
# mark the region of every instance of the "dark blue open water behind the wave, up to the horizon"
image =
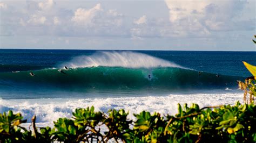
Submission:
<svg viewBox="0 0 256 143">
<path fill-rule="evenodd" d="M 95 50 L 0 49 L 0 72 L 36 70 L 56 67 L 58 63 Z M 251 76 L 242 61 L 256 65 L 256 52 L 206 51 L 134 51 L 172 61 L 183 67 L 207 73 Z"/>
</svg>

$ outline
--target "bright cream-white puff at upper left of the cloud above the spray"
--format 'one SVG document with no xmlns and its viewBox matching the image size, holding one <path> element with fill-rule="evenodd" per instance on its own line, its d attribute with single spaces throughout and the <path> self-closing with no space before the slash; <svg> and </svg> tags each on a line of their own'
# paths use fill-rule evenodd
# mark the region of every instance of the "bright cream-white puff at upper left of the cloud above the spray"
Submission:
<svg viewBox="0 0 256 143">
<path fill-rule="evenodd" d="M 87 10 L 79 8 L 71 20 L 78 25 L 88 25 L 99 11 L 102 11 L 100 4 L 96 4 L 93 8 Z"/>
</svg>

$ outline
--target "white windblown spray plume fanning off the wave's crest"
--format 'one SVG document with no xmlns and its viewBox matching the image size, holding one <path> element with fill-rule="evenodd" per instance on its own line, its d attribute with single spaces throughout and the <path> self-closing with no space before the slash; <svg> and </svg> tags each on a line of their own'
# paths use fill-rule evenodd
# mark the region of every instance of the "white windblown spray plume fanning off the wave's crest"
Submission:
<svg viewBox="0 0 256 143">
<path fill-rule="evenodd" d="M 143 53 L 136 52 L 97 52 L 89 56 L 77 56 L 69 62 L 60 64 L 61 67 L 72 68 L 85 67 L 125 67 L 125 68 L 157 68 L 178 67 L 176 63 L 156 58 Z"/>
</svg>

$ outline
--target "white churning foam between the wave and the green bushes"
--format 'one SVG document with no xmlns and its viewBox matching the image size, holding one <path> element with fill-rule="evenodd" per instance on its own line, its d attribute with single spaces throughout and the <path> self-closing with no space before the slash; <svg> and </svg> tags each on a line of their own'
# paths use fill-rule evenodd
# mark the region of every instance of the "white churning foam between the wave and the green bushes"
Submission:
<svg viewBox="0 0 256 143">
<path fill-rule="evenodd" d="M 24 119 L 31 122 L 33 115 L 37 116 L 37 123 L 52 125 L 60 117 L 72 117 L 76 108 L 95 106 L 96 111 L 107 112 L 110 109 L 125 109 L 129 111 L 129 118 L 133 113 L 143 110 L 160 112 L 162 115 L 175 115 L 177 104 L 197 103 L 204 106 L 242 103 L 241 92 L 217 94 L 171 94 L 169 96 L 144 96 L 144 97 L 114 97 L 114 98 L 49 98 L 49 99 L 0 99 L 0 112 L 13 110 L 22 113 Z M 127 102 L 129 101 L 129 102 Z"/>
</svg>

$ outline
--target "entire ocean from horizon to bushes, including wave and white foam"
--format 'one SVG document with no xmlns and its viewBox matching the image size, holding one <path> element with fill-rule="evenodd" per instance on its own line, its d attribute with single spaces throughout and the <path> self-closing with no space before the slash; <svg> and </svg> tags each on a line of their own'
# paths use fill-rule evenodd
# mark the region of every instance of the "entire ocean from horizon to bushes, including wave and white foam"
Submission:
<svg viewBox="0 0 256 143">
<path fill-rule="evenodd" d="M 0 49 L 0 112 L 51 126 L 92 105 L 133 118 L 175 114 L 178 103 L 234 104 L 243 97 L 237 80 L 251 76 L 242 61 L 256 65 L 256 52 Z"/>
</svg>

